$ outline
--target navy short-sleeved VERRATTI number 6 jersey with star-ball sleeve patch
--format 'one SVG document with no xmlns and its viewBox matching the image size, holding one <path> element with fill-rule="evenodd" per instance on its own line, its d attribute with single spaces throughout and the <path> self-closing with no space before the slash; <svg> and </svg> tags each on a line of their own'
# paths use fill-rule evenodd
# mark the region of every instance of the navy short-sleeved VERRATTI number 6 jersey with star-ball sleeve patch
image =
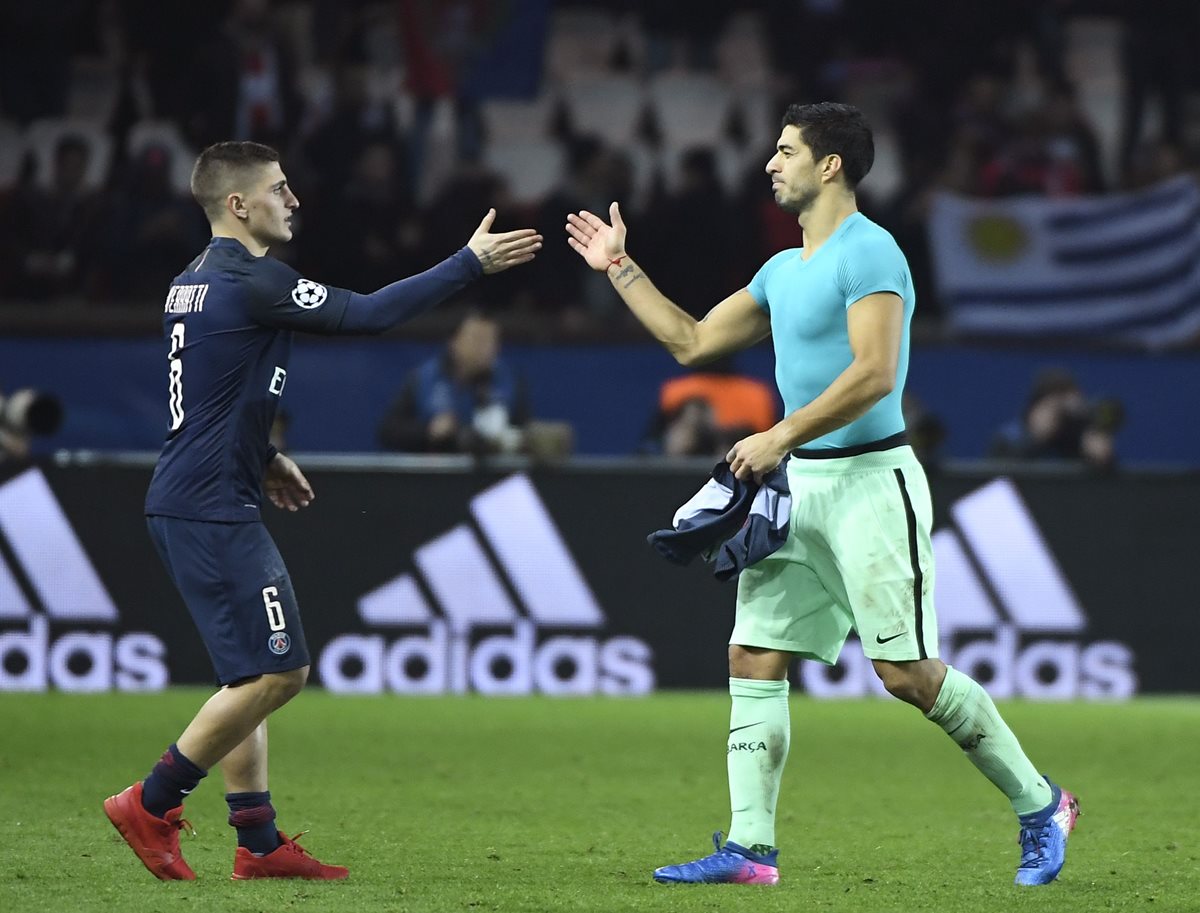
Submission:
<svg viewBox="0 0 1200 913">
<path fill-rule="evenodd" d="M 167 293 L 170 425 L 146 513 L 259 519 L 292 331 L 337 332 L 350 293 L 214 238 Z"/>
</svg>

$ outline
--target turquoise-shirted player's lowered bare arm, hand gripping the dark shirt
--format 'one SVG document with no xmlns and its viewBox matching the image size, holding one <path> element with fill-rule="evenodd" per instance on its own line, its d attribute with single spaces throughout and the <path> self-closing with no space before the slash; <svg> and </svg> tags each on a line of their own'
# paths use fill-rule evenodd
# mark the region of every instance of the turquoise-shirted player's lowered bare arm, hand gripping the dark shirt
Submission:
<svg viewBox="0 0 1200 913">
<path fill-rule="evenodd" d="M 900 360 L 904 301 L 890 292 L 868 295 L 850 306 L 846 323 L 854 360 L 808 406 L 733 445 L 726 459 L 738 479 L 761 481 L 788 451 L 848 425 L 892 392 Z"/>
</svg>

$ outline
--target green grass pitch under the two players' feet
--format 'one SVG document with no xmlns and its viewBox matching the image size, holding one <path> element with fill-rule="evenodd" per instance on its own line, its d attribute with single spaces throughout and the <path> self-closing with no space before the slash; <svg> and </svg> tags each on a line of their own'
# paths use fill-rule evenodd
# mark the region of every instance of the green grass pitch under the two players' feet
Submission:
<svg viewBox="0 0 1200 913">
<path fill-rule="evenodd" d="M 0 911 L 1200 911 L 1200 699 L 1002 707 L 1084 816 L 1013 887 L 1008 804 L 895 702 L 792 701 L 775 888 L 654 884 L 728 824 L 722 693 L 401 699 L 308 691 L 271 723 L 289 834 L 344 883 L 230 882 L 220 776 L 187 804 L 191 883 L 155 881 L 101 801 L 208 692 L 0 695 Z"/>
</svg>

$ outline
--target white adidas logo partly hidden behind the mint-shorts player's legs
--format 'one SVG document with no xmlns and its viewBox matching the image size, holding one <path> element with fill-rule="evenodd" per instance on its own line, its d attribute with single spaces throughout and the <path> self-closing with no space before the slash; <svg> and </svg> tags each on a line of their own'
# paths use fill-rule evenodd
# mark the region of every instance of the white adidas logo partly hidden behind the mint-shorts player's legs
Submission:
<svg viewBox="0 0 1200 913">
<path fill-rule="evenodd" d="M 931 536 L 944 662 L 997 698 L 1136 692 L 1133 651 L 1085 641 L 1087 614 L 1012 480 L 988 482 L 949 512 L 950 524 Z M 800 679 L 818 696 L 886 693 L 856 644 L 847 643 L 836 667 L 803 662 Z"/>
</svg>

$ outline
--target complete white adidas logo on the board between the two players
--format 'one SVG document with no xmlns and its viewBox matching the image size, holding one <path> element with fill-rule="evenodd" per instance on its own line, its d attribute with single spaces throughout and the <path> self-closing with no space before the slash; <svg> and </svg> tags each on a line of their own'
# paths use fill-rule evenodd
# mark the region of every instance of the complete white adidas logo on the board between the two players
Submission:
<svg viewBox="0 0 1200 913">
<path fill-rule="evenodd" d="M 553 518 L 523 474 L 476 494 L 470 521 L 413 552 L 415 571 L 359 599 L 372 629 L 322 650 L 331 691 L 379 693 L 641 695 L 650 648 L 601 639 L 607 619 Z"/>
</svg>

